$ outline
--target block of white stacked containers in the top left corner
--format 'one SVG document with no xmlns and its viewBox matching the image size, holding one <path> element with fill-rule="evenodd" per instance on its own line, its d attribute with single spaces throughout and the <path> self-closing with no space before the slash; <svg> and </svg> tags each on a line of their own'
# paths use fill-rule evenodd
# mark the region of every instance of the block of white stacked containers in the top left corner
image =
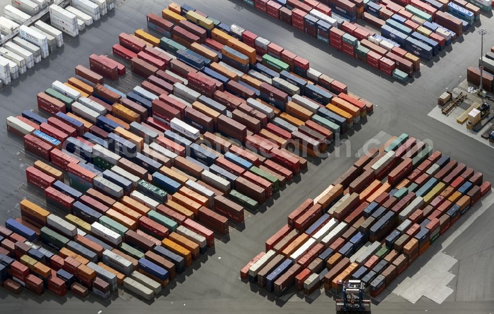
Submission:
<svg viewBox="0 0 494 314">
<path fill-rule="evenodd" d="M 72 5 L 62 8 L 56 4 L 48 7 L 47 0 L 12 0 L 4 7 L 5 16 L 0 17 L 0 32 L 19 35 L 0 47 L 0 81 L 10 84 L 63 46 L 62 32 L 76 37 L 93 22 L 112 10 L 113 0 L 73 0 Z M 32 26 L 24 25 L 36 14 L 48 10 L 49 24 L 38 20 Z M 41 18 L 41 16 L 40 16 Z"/>
</svg>

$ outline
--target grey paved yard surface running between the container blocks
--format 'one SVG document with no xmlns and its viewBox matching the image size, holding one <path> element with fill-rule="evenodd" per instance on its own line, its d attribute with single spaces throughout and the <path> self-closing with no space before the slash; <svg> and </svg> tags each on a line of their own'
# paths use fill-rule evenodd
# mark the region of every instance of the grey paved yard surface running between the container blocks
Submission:
<svg viewBox="0 0 494 314">
<path fill-rule="evenodd" d="M 7 4 L 0 1 L 1 6 Z M 246 212 L 245 224 L 230 226 L 228 237 L 219 237 L 215 246 L 201 255 L 193 267 L 170 281 L 154 302 L 144 303 L 132 294 L 120 289 L 111 299 L 102 300 L 91 294 L 83 302 L 74 294 L 58 297 L 52 293 L 37 296 L 23 290 L 20 296 L 0 289 L 0 307 L 5 313 L 128 313 L 145 310 L 149 313 L 172 311 L 177 313 L 334 313 L 332 295 L 322 295 L 316 290 L 311 296 L 296 294 L 289 290 L 281 298 L 241 281 L 238 271 L 258 252 L 264 250 L 264 241 L 286 224 L 286 216 L 307 197 L 319 195 L 334 179 L 357 160 L 357 154 L 370 136 L 386 140 L 389 134 L 403 132 L 421 139 L 428 139 L 434 150 L 452 156 L 458 162 L 484 173 L 484 180 L 494 180 L 494 151 L 491 147 L 452 130 L 451 127 L 427 117 L 435 99 L 446 87 L 450 90 L 464 78 L 464 69 L 475 64 L 476 48 L 480 36 L 470 32 L 462 42 L 453 43 L 454 49 L 434 64 L 422 67 L 420 77 L 406 88 L 372 73 L 368 67 L 342 52 L 335 51 L 316 39 L 294 31 L 280 20 L 259 14 L 240 0 L 188 0 L 186 3 L 210 14 L 224 23 L 236 23 L 249 31 L 265 37 L 300 54 L 311 62 L 311 67 L 328 74 L 346 84 L 350 91 L 369 99 L 375 104 L 372 117 L 356 129 L 349 130 L 351 141 L 343 143 L 339 150 L 325 159 L 316 159 L 300 177 L 296 177 L 281 192 L 260 207 L 259 212 Z M 74 75 L 74 67 L 82 63 L 87 66 L 90 54 L 112 56 L 112 45 L 117 43 L 122 32 L 132 34 L 136 29 L 146 30 L 145 16 L 149 12 L 159 14 L 169 1 L 116 0 L 116 9 L 102 16 L 101 22 L 85 31 L 83 37 L 65 39 L 63 48 L 49 58 L 43 59 L 34 71 L 15 80 L 12 86 L 0 92 L 1 117 L 17 116 L 21 111 L 36 107 L 36 94 L 49 87 L 49 82 L 68 79 Z M 482 27 L 494 29 L 494 19 L 482 16 Z M 494 45 L 494 37 L 487 36 L 485 46 Z M 117 59 L 118 60 L 118 59 Z M 121 62 L 121 60 L 119 60 Z M 126 65 L 128 63 L 125 63 Z M 375 70 L 377 71 L 377 70 Z M 105 80 L 113 87 L 115 82 Z M 142 78 L 127 74 L 120 79 L 120 88 L 140 84 Z M 359 129 L 360 132 L 355 132 Z M 26 184 L 24 170 L 36 160 L 24 152 L 22 140 L 7 134 L 2 123 L 0 134 L 0 157 L 2 184 L 0 221 L 19 217 L 19 201 L 27 197 L 44 204 L 39 190 Z M 342 136 L 345 139 L 346 136 Z M 494 309 L 494 205 L 493 194 L 482 200 L 464 216 L 446 236 L 441 236 L 435 245 L 395 279 L 391 288 L 386 288 L 372 304 L 373 313 L 492 313 Z M 206 262 L 207 261 L 207 262 Z M 436 265 L 442 265 L 436 269 Z M 432 277 L 432 273 L 444 274 Z M 185 280 L 187 278 L 187 280 Z M 439 280 L 441 279 L 441 280 Z M 437 290 L 428 293 L 426 285 L 434 283 Z M 410 287 L 413 286 L 413 291 Z M 254 290 L 255 293 L 250 291 Z M 390 290 L 391 289 L 391 290 Z M 434 290 L 432 290 L 434 291 Z M 435 295 L 439 297 L 434 300 Z M 444 298 L 443 298 L 444 297 Z M 433 300 L 433 301 L 431 301 Z"/>
</svg>

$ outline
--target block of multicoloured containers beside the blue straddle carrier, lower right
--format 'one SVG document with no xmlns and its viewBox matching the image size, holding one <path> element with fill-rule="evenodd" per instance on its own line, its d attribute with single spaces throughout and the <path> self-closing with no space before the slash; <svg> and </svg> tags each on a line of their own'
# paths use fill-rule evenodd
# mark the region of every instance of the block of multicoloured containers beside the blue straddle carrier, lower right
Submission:
<svg viewBox="0 0 494 314">
<path fill-rule="evenodd" d="M 356 279 L 375 297 L 490 190 L 464 163 L 393 137 L 290 213 L 240 275 L 277 296 Z"/>
</svg>

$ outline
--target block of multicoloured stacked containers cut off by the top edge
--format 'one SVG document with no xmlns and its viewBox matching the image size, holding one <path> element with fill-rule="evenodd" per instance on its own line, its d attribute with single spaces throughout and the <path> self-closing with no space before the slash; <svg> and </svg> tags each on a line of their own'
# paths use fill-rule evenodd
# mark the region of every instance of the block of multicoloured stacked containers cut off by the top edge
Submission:
<svg viewBox="0 0 494 314">
<path fill-rule="evenodd" d="M 479 20 L 481 8 L 492 9 L 491 1 L 464 0 L 244 2 L 402 82 L 419 71 L 420 58 L 432 60 Z M 379 28 L 381 35 L 355 23 L 357 18 Z"/>
</svg>

